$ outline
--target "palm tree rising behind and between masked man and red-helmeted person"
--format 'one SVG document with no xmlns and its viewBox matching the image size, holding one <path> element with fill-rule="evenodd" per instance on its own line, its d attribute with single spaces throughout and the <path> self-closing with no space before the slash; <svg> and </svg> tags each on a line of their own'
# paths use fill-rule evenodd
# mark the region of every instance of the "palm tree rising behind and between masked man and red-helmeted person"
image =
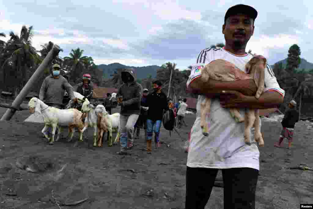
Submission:
<svg viewBox="0 0 313 209">
<path fill-rule="evenodd" d="M 70 69 L 71 80 L 76 83 L 76 80 L 81 76 L 83 69 L 85 67 L 87 56 L 82 56 L 84 50 L 77 48 L 71 50 L 69 57 L 64 57 L 64 65 L 67 65 Z"/>
</svg>

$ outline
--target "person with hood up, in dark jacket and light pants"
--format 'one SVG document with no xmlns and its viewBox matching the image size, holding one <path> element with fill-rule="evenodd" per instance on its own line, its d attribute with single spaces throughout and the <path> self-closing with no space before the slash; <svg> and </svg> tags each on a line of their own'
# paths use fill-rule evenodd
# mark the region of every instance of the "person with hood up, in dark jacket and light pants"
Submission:
<svg viewBox="0 0 313 209">
<path fill-rule="evenodd" d="M 127 154 L 126 149 L 131 149 L 133 144 L 133 131 L 140 114 L 140 102 L 142 86 L 136 82 L 134 68 L 126 68 L 121 72 L 121 80 L 124 82 L 119 87 L 117 98 L 122 98 L 120 116 L 121 150 L 117 154 Z"/>
</svg>

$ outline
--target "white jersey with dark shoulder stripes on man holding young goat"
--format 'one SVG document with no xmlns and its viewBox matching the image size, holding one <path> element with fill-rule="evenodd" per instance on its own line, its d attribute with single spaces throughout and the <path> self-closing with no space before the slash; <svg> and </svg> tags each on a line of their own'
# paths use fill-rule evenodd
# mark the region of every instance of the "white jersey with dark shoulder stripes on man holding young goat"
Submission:
<svg viewBox="0 0 313 209">
<path fill-rule="evenodd" d="M 242 56 L 234 55 L 223 48 L 207 48 L 200 52 L 197 64 L 193 65 L 187 81 L 187 88 L 197 77 L 201 76 L 201 67 L 213 60 L 223 59 L 245 71 L 245 64 L 253 57 L 252 54 Z M 283 97 L 285 91 L 280 88 L 276 77 L 269 65 L 265 70 L 265 91 L 277 91 Z M 240 168 L 248 167 L 259 170 L 259 149 L 254 141 L 254 128 L 252 128 L 251 142 L 244 143 L 244 123 L 237 123 L 231 116 L 229 109 L 220 106 L 219 99 L 212 99 L 210 114 L 207 116 L 209 135 L 202 134 L 200 127 L 200 103 L 204 96 L 198 96 L 197 115 L 191 129 L 191 141 L 188 151 L 187 166 L 203 168 Z M 239 109 L 244 116 L 245 109 Z M 264 140 L 266 143 L 266 139 Z"/>
</svg>

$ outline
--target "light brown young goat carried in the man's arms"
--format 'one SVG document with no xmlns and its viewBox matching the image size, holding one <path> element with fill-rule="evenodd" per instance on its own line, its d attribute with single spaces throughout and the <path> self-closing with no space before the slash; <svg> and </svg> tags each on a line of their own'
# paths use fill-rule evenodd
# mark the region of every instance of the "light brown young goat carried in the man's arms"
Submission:
<svg viewBox="0 0 313 209">
<path fill-rule="evenodd" d="M 254 79 L 255 84 L 258 86 L 258 91 L 255 97 L 259 99 L 264 91 L 264 69 L 266 67 L 266 59 L 263 56 L 254 56 L 246 65 L 245 70 L 248 73 L 244 73 L 232 63 L 218 59 L 210 62 L 201 69 L 201 79 L 204 82 L 208 82 L 209 79 L 216 81 L 235 81 L 244 79 Z M 201 122 L 202 133 L 208 136 L 208 124 L 206 123 L 206 116 L 210 112 L 211 99 L 206 98 L 201 103 Z M 259 110 L 249 109 L 245 113 L 245 118 L 240 116 L 238 109 L 230 108 L 230 113 L 238 123 L 245 121 L 244 129 L 244 142 L 245 144 L 251 144 L 250 130 L 254 126 L 254 139 L 259 142 L 259 146 L 264 146 L 264 141 L 261 134 L 261 126 L 259 122 Z"/>
</svg>

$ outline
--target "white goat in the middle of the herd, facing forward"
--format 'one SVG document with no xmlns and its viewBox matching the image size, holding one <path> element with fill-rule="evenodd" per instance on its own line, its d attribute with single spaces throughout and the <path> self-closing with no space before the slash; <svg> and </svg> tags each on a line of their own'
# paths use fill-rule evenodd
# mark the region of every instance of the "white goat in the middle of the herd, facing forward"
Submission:
<svg viewBox="0 0 313 209">
<path fill-rule="evenodd" d="M 83 106 L 81 107 L 81 111 L 83 113 L 86 113 L 86 118 L 85 118 L 85 127 L 83 128 L 83 132 L 88 128 L 88 127 L 93 127 L 94 128 L 94 134 L 93 134 L 93 142 L 94 142 L 94 147 L 97 146 L 97 122 L 98 122 L 98 114 L 95 112 L 95 106 L 90 104 L 88 99 L 85 99 L 85 102 L 83 102 Z"/>
</svg>

